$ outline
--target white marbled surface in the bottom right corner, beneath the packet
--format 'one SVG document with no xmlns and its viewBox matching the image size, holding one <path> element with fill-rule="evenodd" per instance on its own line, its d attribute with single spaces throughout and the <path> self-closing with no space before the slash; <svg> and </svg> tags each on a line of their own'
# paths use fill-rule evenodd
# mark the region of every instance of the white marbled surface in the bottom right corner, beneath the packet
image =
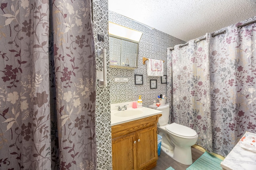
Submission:
<svg viewBox="0 0 256 170">
<path fill-rule="evenodd" d="M 255 135 L 255 133 L 246 132 L 244 135 Z M 256 170 L 256 153 L 243 149 L 239 142 L 221 162 L 221 166 L 226 170 Z"/>
</svg>

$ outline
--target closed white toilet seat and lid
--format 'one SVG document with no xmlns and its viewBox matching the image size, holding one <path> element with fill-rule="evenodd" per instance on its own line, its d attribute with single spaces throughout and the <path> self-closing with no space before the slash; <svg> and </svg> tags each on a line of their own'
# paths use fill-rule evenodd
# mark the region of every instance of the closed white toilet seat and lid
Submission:
<svg viewBox="0 0 256 170">
<path fill-rule="evenodd" d="M 186 127 L 177 123 L 167 125 L 165 129 L 168 133 L 171 133 L 172 135 L 186 139 L 194 139 L 198 136 L 196 131 L 194 131 L 190 127 Z"/>
</svg>

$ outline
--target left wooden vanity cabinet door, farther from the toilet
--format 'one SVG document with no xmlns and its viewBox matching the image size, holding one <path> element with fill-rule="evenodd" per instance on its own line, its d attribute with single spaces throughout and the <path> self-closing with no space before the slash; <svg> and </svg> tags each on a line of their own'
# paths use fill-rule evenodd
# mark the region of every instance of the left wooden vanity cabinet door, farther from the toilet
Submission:
<svg viewBox="0 0 256 170">
<path fill-rule="evenodd" d="M 113 170 L 136 170 L 135 132 L 112 139 Z"/>
</svg>

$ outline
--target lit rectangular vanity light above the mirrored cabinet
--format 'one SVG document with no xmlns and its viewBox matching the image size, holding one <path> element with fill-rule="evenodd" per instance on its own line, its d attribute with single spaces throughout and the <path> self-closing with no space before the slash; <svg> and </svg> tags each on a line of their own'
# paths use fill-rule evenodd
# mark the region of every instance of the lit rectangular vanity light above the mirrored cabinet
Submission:
<svg viewBox="0 0 256 170">
<path fill-rule="evenodd" d="M 108 22 L 108 33 L 117 37 L 130 39 L 136 42 L 139 42 L 142 36 L 142 32 L 140 31 L 136 31 L 134 29 L 130 29 L 112 22 Z"/>
</svg>

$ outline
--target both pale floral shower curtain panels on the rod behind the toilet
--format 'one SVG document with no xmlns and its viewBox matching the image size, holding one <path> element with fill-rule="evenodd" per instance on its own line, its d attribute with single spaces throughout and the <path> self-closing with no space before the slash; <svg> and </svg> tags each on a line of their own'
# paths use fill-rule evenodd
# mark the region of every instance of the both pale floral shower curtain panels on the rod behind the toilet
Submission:
<svg viewBox="0 0 256 170">
<path fill-rule="evenodd" d="M 256 23 L 241 24 L 167 49 L 170 121 L 195 129 L 198 145 L 222 156 L 246 131 L 256 133 Z"/>
</svg>

